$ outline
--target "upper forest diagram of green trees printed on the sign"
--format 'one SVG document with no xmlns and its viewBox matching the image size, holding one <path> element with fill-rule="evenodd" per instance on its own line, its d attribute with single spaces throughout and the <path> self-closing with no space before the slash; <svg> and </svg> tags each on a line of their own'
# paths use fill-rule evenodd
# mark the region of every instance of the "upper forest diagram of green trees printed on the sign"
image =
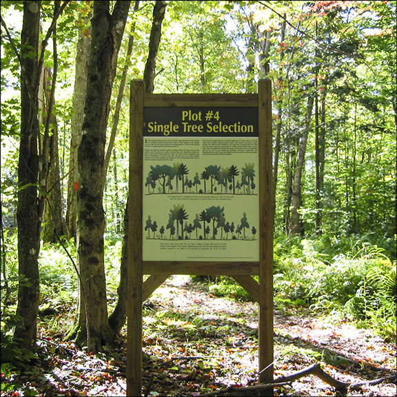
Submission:
<svg viewBox="0 0 397 397">
<path fill-rule="evenodd" d="M 190 172 L 185 163 L 150 165 L 146 194 L 256 194 L 254 163 L 207 165 Z"/>
</svg>

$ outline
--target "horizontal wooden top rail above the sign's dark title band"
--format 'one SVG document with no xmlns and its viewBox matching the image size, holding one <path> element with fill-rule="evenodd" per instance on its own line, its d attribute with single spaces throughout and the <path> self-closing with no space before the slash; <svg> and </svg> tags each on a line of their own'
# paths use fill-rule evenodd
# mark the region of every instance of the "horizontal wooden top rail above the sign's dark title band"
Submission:
<svg viewBox="0 0 397 397">
<path fill-rule="evenodd" d="M 256 108 L 258 94 L 145 94 L 145 106 Z"/>
</svg>

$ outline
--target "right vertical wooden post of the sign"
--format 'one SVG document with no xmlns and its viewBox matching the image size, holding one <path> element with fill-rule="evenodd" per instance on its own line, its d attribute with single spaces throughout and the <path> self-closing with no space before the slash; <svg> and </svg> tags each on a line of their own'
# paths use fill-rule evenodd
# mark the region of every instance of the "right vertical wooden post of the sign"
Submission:
<svg viewBox="0 0 397 397">
<path fill-rule="evenodd" d="M 258 81 L 259 121 L 259 381 L 269 383 L 274 372 L 273 331 L 273 171 L 272 171 L 272 82 Z M 268 391 L 273 396 L 273 389 Z"/>
</svg>

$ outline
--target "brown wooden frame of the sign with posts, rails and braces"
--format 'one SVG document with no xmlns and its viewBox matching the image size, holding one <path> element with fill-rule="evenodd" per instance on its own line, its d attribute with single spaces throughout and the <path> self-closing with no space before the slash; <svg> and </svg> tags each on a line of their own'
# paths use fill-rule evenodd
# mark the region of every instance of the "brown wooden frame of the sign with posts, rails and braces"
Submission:
<svg viewBox="0 0 397 397">
<path fill-rule="evenodd" d="M 259 261 L 143 261 L 143 110 L 145 107 L 258 108 Z M 128 196 L 127 396 L 142 393 L 142 304 L 173 274 L 232 276 L 259 303 L 259 382 L 273 380 L 272 85 L 258 81 L 258 94 L 145 94 L 142 80 L 130 88 L 130 189 Z M 172 271 L 170 271 L 172 269 Z M 143 283 L 143 274 L 149 278 Z M 259 276 L 259 283 L 252 275 Z M 273 394 L 272 390 L 270 394 Z M 267 390 L 269 396 L 269 390 Z"/>
</svg>

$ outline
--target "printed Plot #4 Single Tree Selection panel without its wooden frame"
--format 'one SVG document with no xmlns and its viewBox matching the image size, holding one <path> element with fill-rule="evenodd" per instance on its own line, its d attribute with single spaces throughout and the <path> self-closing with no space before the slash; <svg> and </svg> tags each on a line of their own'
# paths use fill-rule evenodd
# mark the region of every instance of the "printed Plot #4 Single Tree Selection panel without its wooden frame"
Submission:
<svg viewBox="0 0 397 397">
<path fill-rule="evenodd" d="M 258 109 L 143 121 L 143 261 L 258 261 Z"/>
</svg>

